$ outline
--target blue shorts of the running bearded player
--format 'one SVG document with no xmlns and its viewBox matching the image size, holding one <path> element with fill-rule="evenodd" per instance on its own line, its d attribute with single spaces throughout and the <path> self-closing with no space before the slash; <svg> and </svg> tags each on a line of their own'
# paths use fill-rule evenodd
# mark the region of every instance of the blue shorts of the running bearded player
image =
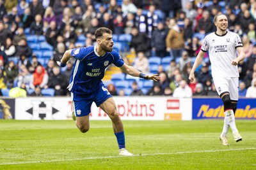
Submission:
<svg viewBox="0 0 256 170">
<path fill-rule="evenodd" d="M 100 104 L 104 103 L 109 97 L 112 97 L 111 94 L 106 89 L 105 85 L 102 84 L 101 87 L 92 94 L 78 96 L 71 93 L 73 111 L 76 113 L 76 117 L 83 117 L 91 113 L 92 103 L 95 102 L 97 107 Z"/>
</svg>

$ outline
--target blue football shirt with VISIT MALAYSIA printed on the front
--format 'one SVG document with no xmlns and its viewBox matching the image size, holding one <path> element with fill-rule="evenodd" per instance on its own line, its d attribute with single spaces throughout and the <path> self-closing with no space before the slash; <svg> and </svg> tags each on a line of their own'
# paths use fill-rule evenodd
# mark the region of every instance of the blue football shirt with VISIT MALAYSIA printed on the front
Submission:
<svg viewBox="0 0 256 170">
<path fill-rule="evenodd" d="M 99 56 L 96 46 L 74 48 L 71 56 L 76 59 L 68 90 L 77 95 L 91 94 L 102 85 L 106 69 L 113 63 L 117 67 L 124 65 L 122 57 L 113 50 Z"/>
</svg>

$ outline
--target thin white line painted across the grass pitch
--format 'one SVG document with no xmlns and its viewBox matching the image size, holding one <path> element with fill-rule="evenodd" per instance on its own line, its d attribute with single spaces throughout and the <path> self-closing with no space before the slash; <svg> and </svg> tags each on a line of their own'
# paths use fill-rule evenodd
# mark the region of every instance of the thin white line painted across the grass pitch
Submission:
<svg viewBox="0 0 256 170">
<path fill-rule="evenodd" d="M 131 157 L 154 156 L 154 155 L 176 155 L 176 154 L 186 154 L 186 153 L 228 152 L 228 151 L 239 151 L 239 150 L 256 150 L 256 148 L 239 148 L 239 149 L 226 149 L 226 150 L 195 150 L 195 151 L 152 153 L 152 154 L 149 153 L 149 154 L 133 155 Z M 123 158 L 123 157 L 124 156 L 108 156 L 108 157 L 86 157 L 81 159 L 55 159 L 55 160 L 36 160 L 36 161 L 29 161 L 29 162 L 6 162 L 6 163 L 0 163 L 0 166 L 15 165 L 15 164 L 37 164 L 37 163 L 44 163 L 44 162 L 59 162 L 59 161 L 73 161 L 73 160 Z"/>
</svg>

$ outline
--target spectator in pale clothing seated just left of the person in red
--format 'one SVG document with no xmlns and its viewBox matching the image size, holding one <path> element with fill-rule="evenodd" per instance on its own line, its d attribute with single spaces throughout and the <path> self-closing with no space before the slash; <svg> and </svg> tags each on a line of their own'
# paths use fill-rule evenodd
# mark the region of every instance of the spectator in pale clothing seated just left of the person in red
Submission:
<svg viewBox="0 0 256 170">
<path fill-rule="evenodd" d="M 21 87 L 21 84 L 25 83 L 26 90 L 28 90 L 30 79 L 31 79 L 31 73 L 29 73 L 28 68 L 24 64 L 22 64 L 20 66 L 19 75 L 17 76 L 18 87 Z"/>
</svg>

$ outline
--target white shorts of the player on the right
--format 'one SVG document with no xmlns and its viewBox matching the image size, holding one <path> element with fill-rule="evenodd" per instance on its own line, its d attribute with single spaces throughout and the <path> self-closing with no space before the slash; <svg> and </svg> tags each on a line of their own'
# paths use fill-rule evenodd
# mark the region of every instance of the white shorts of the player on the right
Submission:
<svg viewBox="0 0 256 170">
<path fill-rule="evenodd" d="M 238 77 L 214 77 L 212 78 L 219 94 L 229 92 L 232 101 L 238 101 Z"/>
</svg>

